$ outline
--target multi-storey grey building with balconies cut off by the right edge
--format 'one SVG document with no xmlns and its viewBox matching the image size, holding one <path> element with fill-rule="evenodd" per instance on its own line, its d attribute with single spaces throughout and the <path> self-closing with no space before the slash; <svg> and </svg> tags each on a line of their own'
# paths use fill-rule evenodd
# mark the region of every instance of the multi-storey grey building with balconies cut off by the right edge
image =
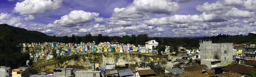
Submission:
<svg viewBox="0 0 256 77">
<path fill-rule="evenodd" d="M 242 53 L 245 55 L 244 60 L 256 60 L 256 43 L 244 44 Z"/>
</svg>

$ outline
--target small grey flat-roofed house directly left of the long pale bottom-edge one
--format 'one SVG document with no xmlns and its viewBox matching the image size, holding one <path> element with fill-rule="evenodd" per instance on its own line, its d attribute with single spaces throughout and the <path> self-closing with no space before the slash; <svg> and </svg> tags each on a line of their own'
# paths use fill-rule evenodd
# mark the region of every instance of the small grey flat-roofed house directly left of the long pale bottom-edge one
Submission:
<svg viewBox="0 0 256 77">
<path fill-rule="evenodd" d="M 54 77 L 74 77 L 73 68 L 54 68 Z"/>
</svg>

